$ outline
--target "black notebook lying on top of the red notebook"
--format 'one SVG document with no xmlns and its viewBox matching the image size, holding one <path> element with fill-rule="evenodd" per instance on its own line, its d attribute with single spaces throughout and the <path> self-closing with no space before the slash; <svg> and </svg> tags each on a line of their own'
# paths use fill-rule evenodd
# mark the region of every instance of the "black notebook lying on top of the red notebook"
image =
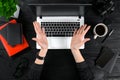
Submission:
<svg viewBox="0 0 120 80">
<path fill-rule="evenodd" d="M 22 24 L 8 24 L 7 25 L 7 42 L 14 46 L 22 43 Z"/>
</svg>

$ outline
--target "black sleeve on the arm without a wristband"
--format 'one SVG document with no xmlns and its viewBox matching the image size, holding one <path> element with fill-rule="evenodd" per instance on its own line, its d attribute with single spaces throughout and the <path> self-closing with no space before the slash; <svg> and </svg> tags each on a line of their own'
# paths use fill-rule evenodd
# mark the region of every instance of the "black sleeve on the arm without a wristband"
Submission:
<svg viewBox="0 0 120 80">
<path fill-rule="evenodd" d="M 92 70 L 86 62 L 77 63 L 77 69 L 80 80 L 94 80 Z"/>
</svg>

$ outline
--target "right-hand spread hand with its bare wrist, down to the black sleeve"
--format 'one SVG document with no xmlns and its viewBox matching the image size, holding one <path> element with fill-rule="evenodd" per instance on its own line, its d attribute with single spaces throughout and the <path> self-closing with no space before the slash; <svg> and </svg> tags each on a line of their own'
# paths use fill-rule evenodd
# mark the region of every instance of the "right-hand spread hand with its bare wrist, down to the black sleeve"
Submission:
<svg viewBox="0 0 120 80">
<path fill-rule="evenodd" d="M 84 38 L 89 29 L 90 26 L 87 27 L 87 25 L 83 25 L 78 30 L 75 30 L 73 34 L 71 41 L 71 51 L 77 63 L 85 61 L 81 52 L 79 51 L 79 48 L 90 40 L 90 38 Z"/>
</svg>

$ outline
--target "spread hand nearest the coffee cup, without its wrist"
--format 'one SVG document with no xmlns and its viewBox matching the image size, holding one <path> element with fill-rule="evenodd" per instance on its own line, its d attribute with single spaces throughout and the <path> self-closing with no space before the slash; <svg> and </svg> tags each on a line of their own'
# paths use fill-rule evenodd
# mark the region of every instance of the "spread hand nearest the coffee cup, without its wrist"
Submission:
<svg viewBox="0 0 120 80">
<path fill-rule="evenodd" d="M 90 38 L 84 38 L 90 26 L 83 25 L 78 30 L 75 30 L 72 41 L 71 50 L 78 50 L 83 44 L 90 40 Z"/>
</svg>

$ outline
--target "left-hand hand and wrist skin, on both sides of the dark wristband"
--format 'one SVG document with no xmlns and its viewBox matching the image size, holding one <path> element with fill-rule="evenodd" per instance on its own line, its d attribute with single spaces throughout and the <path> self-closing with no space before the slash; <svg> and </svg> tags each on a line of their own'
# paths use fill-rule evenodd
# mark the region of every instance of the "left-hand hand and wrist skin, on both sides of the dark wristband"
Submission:
<svg viewBox="0 0 120 80">
<path fill-rule="evenodd" d="M 45 29 L 41 28 L 40 24 L 36 21 L 33 22 L 33 25 L 34 25 L 34 29 L 37 34 L 37 37 L 32 38 L 32 40 L 36 41 L 39 44 L 39 46 L 41 47 L 39 56 L 45 57 L 47 54 L 47 50 L 48 50 L 48 41 L 47 41 L 47 37 L 45 34 Z M 39 64 L 43 64 L 43 63 L 44 63 L 44 60 L 39 60 L 36 58 L 35 64 L 39 65 Z"/>
</svg>

